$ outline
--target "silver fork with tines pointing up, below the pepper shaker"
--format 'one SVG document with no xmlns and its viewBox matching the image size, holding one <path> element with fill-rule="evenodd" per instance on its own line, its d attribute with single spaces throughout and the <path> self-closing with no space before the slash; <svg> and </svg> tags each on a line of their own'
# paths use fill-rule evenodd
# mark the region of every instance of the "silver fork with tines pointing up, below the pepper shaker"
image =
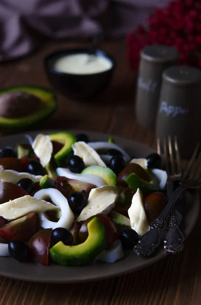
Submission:
<svg viewBox="0 0 201 305">
<path fill-rule="evenodd" d="M 160 140 L 157 139 L 157 153 L 158 155 L 162 155 L 162 150 L 164 153 L 165 169 L 168 173 L 167 197 L 170 199 L 174 191 L 174 181 L 182 179 L 181 158 L 176 136 L 174 137 L 174 141 L 172 141 L 169 136 L 168 144 L 166 139 L 164 139 L 163 142 L 164 143 L 160 143 Z M 163 149 L 161 147 L 163 147 Z M 164 239 L 164 249 L 167 252 L 174 254 L 182 251 L 184 247 L 184 236 L 179 228 L 180 219 L 176 215 L 175 206 L 172 208 L 167 226 L 168 228 Z"/>
</svg>

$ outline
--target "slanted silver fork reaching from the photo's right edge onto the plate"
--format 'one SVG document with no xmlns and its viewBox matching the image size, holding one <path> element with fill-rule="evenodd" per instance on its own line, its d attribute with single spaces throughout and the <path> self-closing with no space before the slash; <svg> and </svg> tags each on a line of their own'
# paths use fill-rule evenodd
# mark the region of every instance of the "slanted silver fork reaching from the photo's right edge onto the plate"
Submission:
<svg viewBox="0 0 201 305">
<path fill-rule="evenodd" d="M 198 148 L 199 147 L 197 146 L 184 171 L 184 174 L 182 175 L 181 186 L 179 186 L 176 191 L 173 192 L 158 218 L 150 224 L 149 231 L 141 237 L 137 245 L 134 247 L 134 251 L 137 255 L 150 256 L 154 252 L 154 250 L 160 245 L 162 233 L 167 229 L 167 220 L 179 196 L 186 189 L 197 189 L 201 186 L 201 151 L 196 159 Z M 194 166 L 192 166 L 193 164 Z"/>
</svg>

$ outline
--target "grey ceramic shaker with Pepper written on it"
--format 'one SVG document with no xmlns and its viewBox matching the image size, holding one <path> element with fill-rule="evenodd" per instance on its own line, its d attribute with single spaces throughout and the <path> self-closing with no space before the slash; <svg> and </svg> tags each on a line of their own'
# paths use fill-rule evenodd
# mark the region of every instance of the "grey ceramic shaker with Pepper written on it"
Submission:
<svg viewBox="0 0 201 305">
<path fill-rule="evenodd" d="M 181 157 L 190 158 L 201 140 L 201 71 L 174 66 L 163 73 L 156 136 L 177 136 Z"/>
</svg>

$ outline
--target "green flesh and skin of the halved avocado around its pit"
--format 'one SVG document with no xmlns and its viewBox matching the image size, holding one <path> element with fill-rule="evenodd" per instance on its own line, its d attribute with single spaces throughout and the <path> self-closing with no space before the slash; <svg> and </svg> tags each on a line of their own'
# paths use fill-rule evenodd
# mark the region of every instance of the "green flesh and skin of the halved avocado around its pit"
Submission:
<svg viewBox="0 0 201 305">
<path fill-rule="evenodd" d="M 5 117 L 0 116 L 0 127 L 13 128 L 13 127 L 24 127 L 41 121 L 46 117 L 53 114 L 57 109 L 56 97 L 52 90 L 44 87 L 36 86 L 15 86 L 8 87 L 0 90 L 1 96 L 8 93 L 28 93 L 35 96 L 40 101 L 40 106 L 35 111 L 30 111 L 26 116 L 22 117 Z M 18 115 L 19 116 L 19 115 Z"/>
</svg>

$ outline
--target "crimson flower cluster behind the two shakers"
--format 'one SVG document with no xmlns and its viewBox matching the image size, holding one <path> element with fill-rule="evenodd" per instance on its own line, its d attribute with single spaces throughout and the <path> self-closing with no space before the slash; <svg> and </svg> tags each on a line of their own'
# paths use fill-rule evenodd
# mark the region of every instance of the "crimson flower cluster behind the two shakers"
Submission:
<svg viewBox="0 0 201 305">
<path fill-rule="evenodd" d="M 148 17 L 148 28 L 139 26 L 127 36 L 127 57 L 133 70 L 138 68 L 140 50 L 147 45 L 175 47 L 180 63 L 201 68 L 201 1 L 175 0 Z"/>
</svg>

